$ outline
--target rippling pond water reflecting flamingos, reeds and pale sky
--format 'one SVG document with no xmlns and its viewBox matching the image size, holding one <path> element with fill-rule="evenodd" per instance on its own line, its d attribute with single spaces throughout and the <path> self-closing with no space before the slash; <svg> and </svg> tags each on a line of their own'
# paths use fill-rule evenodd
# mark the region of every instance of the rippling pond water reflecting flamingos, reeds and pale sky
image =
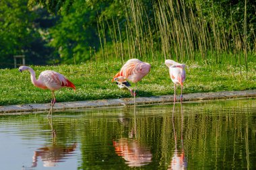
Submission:
<svg viewBox="0 0 256 170">
<path fill-rule="evenodd" d="M 256 169 L 256 99 L 1 116 L 0 138 L 0 169 Z"/>
</svg>

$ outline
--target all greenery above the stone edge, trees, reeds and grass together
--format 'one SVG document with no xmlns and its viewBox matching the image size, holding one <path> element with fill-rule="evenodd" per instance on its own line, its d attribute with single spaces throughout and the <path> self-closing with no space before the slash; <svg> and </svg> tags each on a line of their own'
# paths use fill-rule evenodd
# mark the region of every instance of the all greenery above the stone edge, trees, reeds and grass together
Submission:
<svg viewBox="0 0 256 170">
<path fill-rule="evenodd" d="M 255 89 L 255 10 L 247 0 L 0 1 L 0 68 L 20 54 L 49 65 L 33 68 L 77 86 L 58 91 L 58 101 L 129 97 L 110 83 L 129 58 L 152 64 L 139 96 L 173 93 L 165 59 L 188 65 L 185 93 Z M 50 101 L 28 73 L 3 69 L 0 83 L 0 105 Z"/>
</svg>

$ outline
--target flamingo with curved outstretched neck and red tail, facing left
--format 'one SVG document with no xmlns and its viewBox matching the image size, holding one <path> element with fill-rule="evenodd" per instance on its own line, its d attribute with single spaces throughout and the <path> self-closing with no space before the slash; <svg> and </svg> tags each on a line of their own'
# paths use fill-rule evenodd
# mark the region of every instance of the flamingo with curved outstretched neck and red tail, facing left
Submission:
<svg viewBox="0 0 256 170">
<path fill-rule="evenodd" d="M 71 87 L 75 91 L 75 85 L 73 85 L 73 83 L 71 83 L 71 81 L 69 81 L 63 75 L 55 71 L 43 71 L 42 73 L 40 73 L 38 79 L 36 79 L 36 73 L 31 67 L 21 66 L 19 68 L 19 71 L 21 73 L 22 71 L 29 71 L 31 81 L 34 86 L 39 87 L 40 89 L 51 90 L 52 92 L 51 110 L 53 109 L 53 105 L 55 105 L 56 103 L 56 98 L 54 93 L 56 90 L 61 89 L 62 87 Z"/>
</svg>

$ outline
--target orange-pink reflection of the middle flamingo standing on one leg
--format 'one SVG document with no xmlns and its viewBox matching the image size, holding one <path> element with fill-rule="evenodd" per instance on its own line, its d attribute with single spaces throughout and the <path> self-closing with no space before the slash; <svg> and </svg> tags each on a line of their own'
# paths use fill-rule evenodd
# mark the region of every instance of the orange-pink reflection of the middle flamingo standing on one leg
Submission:
<svg viewBox="0 0 256 170">
<path fill-rule="evenodd" d="M 135 108 L 134 121 L 136 122 Z M 143 144 L 140 144 L 137 140 L 136 123 L 134 124 L 134 128 L 131 128 L 128 136 L 129 138 L 113 140 L 115 153 L 118 156 L 123 157 L 126 161 L 125 163 L 127 163 L 129 167 L 141 167 L 151 163 L 152 153 L 150 153 L 150 148 L 143 146 Z"/>
</svg>

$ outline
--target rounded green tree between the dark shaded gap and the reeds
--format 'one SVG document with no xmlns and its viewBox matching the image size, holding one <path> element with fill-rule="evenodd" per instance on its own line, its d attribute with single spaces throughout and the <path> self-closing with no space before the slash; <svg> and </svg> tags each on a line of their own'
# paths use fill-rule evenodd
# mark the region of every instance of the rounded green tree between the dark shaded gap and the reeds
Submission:
<svg viewBox="0 0 256 170">
<path fill-rule="evenodd" d="M 63 62 L 72 63 L 74 59 L 79 62 L 88 60 L 90 53 L 98 50 L 100 46 L 98 17 L 104 15 L 109 20 L 118 15 L 116 2 L 83 2 L 75 1 L 69 13 L 62 15 L 58 24 L 50 30 L 50 45 L 58 50 Z"/>
</svg>

